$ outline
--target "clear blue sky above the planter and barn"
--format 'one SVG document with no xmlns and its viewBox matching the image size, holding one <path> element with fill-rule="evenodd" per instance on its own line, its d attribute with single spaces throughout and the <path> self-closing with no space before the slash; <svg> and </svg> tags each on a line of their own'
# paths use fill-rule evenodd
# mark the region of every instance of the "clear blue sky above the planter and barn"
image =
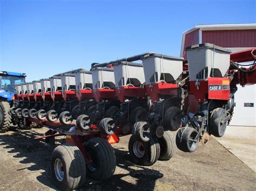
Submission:
<svg viewBox="0 0 256 191">
<path fill-rule="evenodd" d="M 144 52 L 179 56 L 196 24 L 255 23 L 255 1 L 0 0 L 0 70 L 27 81 Z"/>
</svg>

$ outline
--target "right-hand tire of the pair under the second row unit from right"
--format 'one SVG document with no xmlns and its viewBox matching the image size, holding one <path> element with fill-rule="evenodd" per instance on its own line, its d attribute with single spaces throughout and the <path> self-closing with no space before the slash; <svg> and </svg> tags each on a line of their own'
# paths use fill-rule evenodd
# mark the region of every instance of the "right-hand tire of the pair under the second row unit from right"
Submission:
<svg viewBox="0 0 256 191">
<path fill-rule="evenodd" d="M 165 131 L 163 137 L 157 139 L 160 145 L 159 160 L 170 160 L 176 152 L 176 144 L 171 131 Z"/>
</svg>

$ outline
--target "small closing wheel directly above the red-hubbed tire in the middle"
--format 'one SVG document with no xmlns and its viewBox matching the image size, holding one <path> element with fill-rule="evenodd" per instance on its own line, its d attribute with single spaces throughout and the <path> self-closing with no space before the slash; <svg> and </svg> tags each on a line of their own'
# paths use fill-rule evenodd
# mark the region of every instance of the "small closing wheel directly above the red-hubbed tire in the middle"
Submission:
<svg viewBox="0 0 256 191">
<path fill-rule="evenodd" d="M 144 142 L 148 142 L 152 137 L 152 132 L 149 129 L 147 122 L 137 122 L 133 125 L 132 135 L 139 136 Z"/>
</svg>

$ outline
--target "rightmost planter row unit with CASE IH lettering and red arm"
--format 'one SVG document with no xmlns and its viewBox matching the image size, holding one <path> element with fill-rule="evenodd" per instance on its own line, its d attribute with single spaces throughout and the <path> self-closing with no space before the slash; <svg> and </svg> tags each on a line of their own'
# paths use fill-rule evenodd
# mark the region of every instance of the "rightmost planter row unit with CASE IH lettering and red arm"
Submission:
<svg viewBox="0 0 256 191">
<path fill-rule="evenodd" d="M 189 81 L 188 101 L 185 107 L 183 127 L 176 136 L 177 147 L 181 151 L 194 152 L 199 142 L 207 143 L 209 135 L 224 136 L 231 120 L 234 107 L 234 93 L 237 84 L 255 84 L 255 55 L 243 56 L 248 51 L 230 52 L 213 44 L 199 44 L 186 48 Z M 250 68 L 239 67 L 230 61 L 253 61 Z M 239 77 L 238 77 L 239 76 Z"/>
</svg>

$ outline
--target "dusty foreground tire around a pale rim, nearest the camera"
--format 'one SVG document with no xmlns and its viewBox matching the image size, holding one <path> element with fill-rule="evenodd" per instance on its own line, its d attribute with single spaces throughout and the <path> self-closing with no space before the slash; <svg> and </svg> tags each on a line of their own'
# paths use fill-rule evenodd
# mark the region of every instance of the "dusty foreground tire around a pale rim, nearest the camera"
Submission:
<svg viewBox="0 0 256 191">
<path fill-rule="evenodd" d="M 63 165 L 64 177 L 58 180 L 55 162 L 60 160 Z M 86 165 L 79 148 L 71 144 L 59 145 L 51 155 L 51 174 L 56 187 L 60 190 L 73 190 L 85 183 Z"/>
</svg>

